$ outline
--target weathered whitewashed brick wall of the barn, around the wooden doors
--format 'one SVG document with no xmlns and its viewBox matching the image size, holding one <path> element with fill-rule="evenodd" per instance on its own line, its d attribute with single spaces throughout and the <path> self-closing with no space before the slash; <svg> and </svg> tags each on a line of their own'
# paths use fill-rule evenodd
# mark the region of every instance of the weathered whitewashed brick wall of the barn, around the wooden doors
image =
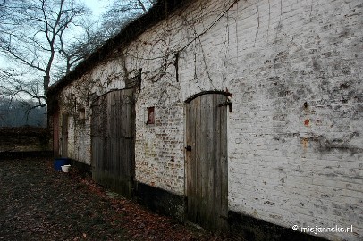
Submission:
<svg viewBox="0 0 363 241">
<path fill-rule="evenodd" d="M 229 208 L 287 228 L 352 225 L 355 233 L 317 235 L 361 240 L 362 2 L 233 2 L 193 2 L 97 66 L 80 86 L 99 96 L 123 88 L 142 68 L 136 179 L 179 195 L 184 101 L 228 89 Z M 146 124 L 150 106 L 155 125 Z M 74 134 L 73 152 L 89 163 L 86 123 Z"/>
</svg>

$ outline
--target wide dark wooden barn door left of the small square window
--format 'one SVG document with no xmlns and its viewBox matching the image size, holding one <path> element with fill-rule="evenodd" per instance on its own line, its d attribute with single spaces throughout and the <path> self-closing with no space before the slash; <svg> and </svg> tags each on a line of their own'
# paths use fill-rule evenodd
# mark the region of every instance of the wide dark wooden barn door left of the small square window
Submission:
<svg viewBox="0 0 363 241">
<path fill-rule="evenodd" d="M 133 89 L 110 92 L 92 106 L 92 176 L 97 183 L 130 196 L 134 167 Z"/>
</svg>

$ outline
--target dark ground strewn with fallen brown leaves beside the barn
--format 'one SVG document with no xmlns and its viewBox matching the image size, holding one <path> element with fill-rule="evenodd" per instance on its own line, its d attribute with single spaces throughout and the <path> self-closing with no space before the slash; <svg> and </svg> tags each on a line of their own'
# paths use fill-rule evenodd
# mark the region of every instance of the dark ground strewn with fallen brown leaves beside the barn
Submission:
<svg viewBox="0 0 363 241">
<path fill-rule="evenodd" d="M 0 160 L 1 240 L 224 240 L 149 212 L 49 158 Z"/>
</svg>

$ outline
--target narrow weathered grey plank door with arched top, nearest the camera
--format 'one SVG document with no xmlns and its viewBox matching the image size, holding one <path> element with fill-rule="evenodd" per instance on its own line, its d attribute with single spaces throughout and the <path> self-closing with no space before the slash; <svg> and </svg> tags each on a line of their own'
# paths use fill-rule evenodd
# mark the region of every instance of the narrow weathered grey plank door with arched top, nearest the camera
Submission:
<svg viewBox="0 0 363 241">
<path fill-rule="evenodd" d="M 226 100 L 206 94 L 186 107 L 187 217 L 212 230 L 225 229 L 228 212 Z"/>
</svg>

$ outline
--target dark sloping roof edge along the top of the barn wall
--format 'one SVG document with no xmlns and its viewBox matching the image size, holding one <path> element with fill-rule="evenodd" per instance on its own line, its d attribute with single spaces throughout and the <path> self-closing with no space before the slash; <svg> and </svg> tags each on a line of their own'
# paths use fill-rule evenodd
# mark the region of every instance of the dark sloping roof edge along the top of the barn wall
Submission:
<svg viewBox="0 0 363 241">
<path fill-rule="evenodd" d="M 72 71 L 49 87 L 46 91 L 46 96 L 54 97 L 63 87 L 72 83 L 73 80 L 79 79 L 93 67 L 97 66 L 99 62 L 106 60 L 107 56 L 112 54 L 114 49 L 127 46 L 145 30 L 164 20 L 170 13 L 181 8 L 187 2 L 189 0 L 158 0 L 146 14 L 127 24 L 115 37 L 108 39 L 103 46 L 97 48 L 95 52 L 81 61 Z"/>
</svg>

